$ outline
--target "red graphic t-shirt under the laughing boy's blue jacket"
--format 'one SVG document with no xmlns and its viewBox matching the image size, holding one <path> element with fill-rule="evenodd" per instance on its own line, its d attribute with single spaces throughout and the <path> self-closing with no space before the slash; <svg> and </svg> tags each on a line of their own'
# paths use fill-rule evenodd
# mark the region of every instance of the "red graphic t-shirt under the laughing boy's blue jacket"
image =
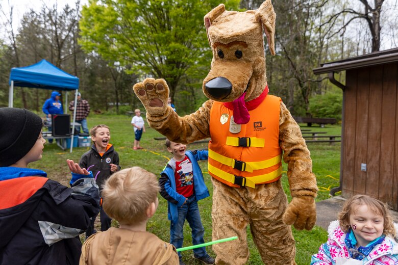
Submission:
<svg viewBox="0 0 398 265">
<path fill-rule="evenodd" d="M 182 161 L 176 161 L 174 177 L 176 178 L 177 193 L 185 198 L 191 196 L 193 194 L 193 169 L 188 156 L 185 156 Z"/>
</svg>

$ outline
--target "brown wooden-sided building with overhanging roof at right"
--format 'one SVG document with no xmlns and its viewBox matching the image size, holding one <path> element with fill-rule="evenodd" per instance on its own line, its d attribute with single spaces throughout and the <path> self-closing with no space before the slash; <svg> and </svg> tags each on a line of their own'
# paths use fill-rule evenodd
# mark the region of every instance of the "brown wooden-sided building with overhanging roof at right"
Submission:
<svg viewBox="0 0 398 265">
<path fill-rule="evenodd" d="M 346 71 L 345 85 L 334 73 Z M 342 197 L 367 194 L 398 209 L 398 48 L 322 64 L 343 90 Z"/>
</svg>

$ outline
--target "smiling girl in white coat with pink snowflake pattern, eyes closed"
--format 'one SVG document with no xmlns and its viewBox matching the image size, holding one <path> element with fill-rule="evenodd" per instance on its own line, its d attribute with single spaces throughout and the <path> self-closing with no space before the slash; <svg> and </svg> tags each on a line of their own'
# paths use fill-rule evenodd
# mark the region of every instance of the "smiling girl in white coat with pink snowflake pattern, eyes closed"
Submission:
<svg viewBox="0 0 398 265">
<path fill-rule="evenodd" d="M 312 256 L 311 265 L 398 264 L 395 224 L 387 206 L 375 198 L 352 196 L 328 232 L 328 241 Z"/>
</svg>

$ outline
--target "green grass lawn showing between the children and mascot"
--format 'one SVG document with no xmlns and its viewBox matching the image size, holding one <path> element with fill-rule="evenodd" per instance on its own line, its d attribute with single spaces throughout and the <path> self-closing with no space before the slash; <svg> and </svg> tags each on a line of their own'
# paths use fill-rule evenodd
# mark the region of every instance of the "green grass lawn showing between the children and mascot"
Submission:
<svg viewBox="0 0 398 265">
<path fill-rule="evenodd" d="M 167 163 L 167 158 L 170 154 L 164 147 L 164 141 L 154 140 L 154 137 L 161 137 L 157 131 L 152 128 L 146 128 L 146 133 L 141 139 L 141 146 L 145 150 L 133 150 L 134 132 L 130 124 L 131 117 L 128 116 L 108 116 L 108 115 L 92 115 L 88 118 L 88 125 L 92 127 L 97 124 L 106 124 L 111 128 L 111 143 L 115 150 L 119 153 L 120 166 L 128 168 L 132 166 L 139 166 L 148 171 L 159 175 Z M 305 124 L 301 124 L 305 125 Z M 308 128 L 308 127 L 305 127 Z M 327 131 L 328 135 L 340 135 L 341 126 L 329 125 L 325 128 L 313 126 L 312 131 Z M 204 149 L 207 144 L 190 144 L 188 149 Z M 329 198 L 329 190 L 333 187 L 339 186 L 340 177 L 340 143 L 329 145 L 328 143 L 309 143 L 308 148 L 311 151 L 311 158 L 313 160 L 313 172 L 317 177 L 319 187 L 317 201 Z M 73 152 L 69 150 L 63 151 L 56 144 L 46 144 L 43 152 L 42 160 L 30 164 L 32 168 L 38 168 L 46 171 L 48 177 L 55 179 L 65 185 L 68 185 L 70 180 L 70 173 L 66 165 L 66 159 L 72 159 L 76 162 L 80 160 L 81 155 L 89 150 L 88 147 L 73 148 Z M 203 172 L 207 172 L 207 162 L 200 162 Z M 283 166 L 286 170 L 286 165 Z M 213 194 L 213 187 L 210 176 L 204 174 L 207 187 L 210 194 Z M 290 192 L 288 188 L 288 181 L 286 173 L 282 177 L 283 187 L 290 200 Z M 212 198 L 206 198 L 199 202 L 199 207 L 202 216 L 202 222 L 205 227 L 205 242 L 211 241 L 211 206 Z M 98 220 L 99 218 L 97 218 Z M 117 225 L 117 222 L 113 222 Z M 96 225 L 97 226 L 97 225 Z M 170 222 L 167 220 L 167 202 L 159 195 L 159 208 L 155 216 L 148 222 L 147 230 L 156 234 L 160 239 L 169 241 L 169 227 Z M 191 245 L 191 235 L 188 225 L 184 227 L 184 247 Z M 247 229 L 248 246 L 250 248 L 250 259 L 247 264 L 262 264 L 261 257 L 253 243 L 250 230 Z M 311 255 L 317 253 L 320 244 L 326 242 L 327 232 L 315 227 L 312 231 L 297 231 L 293 228 L 293 235 L 296 240 L 296 262 L 299 265 L 309 264 Z M 211 247 L 207 247 L 210 255 L 215 256 Z M 187 264 L 199 264 L 193 261 L 190 257 L 191 251 L 182 252 L 183 259 Z"/>
</svg>

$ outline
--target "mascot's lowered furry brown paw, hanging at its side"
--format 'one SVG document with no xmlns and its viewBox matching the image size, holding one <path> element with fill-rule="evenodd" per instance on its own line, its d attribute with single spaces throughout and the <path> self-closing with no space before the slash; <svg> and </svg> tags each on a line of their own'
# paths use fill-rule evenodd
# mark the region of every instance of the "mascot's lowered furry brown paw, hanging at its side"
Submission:
<svg viewBox="0 0 398 265">
<path fill-rule="evenodd" d="M 295 196 L 289 203 L 283 222 L 297 230 L 311 230 L 316 222 L 315 199 L 312 196 Z"/>
</svg>

